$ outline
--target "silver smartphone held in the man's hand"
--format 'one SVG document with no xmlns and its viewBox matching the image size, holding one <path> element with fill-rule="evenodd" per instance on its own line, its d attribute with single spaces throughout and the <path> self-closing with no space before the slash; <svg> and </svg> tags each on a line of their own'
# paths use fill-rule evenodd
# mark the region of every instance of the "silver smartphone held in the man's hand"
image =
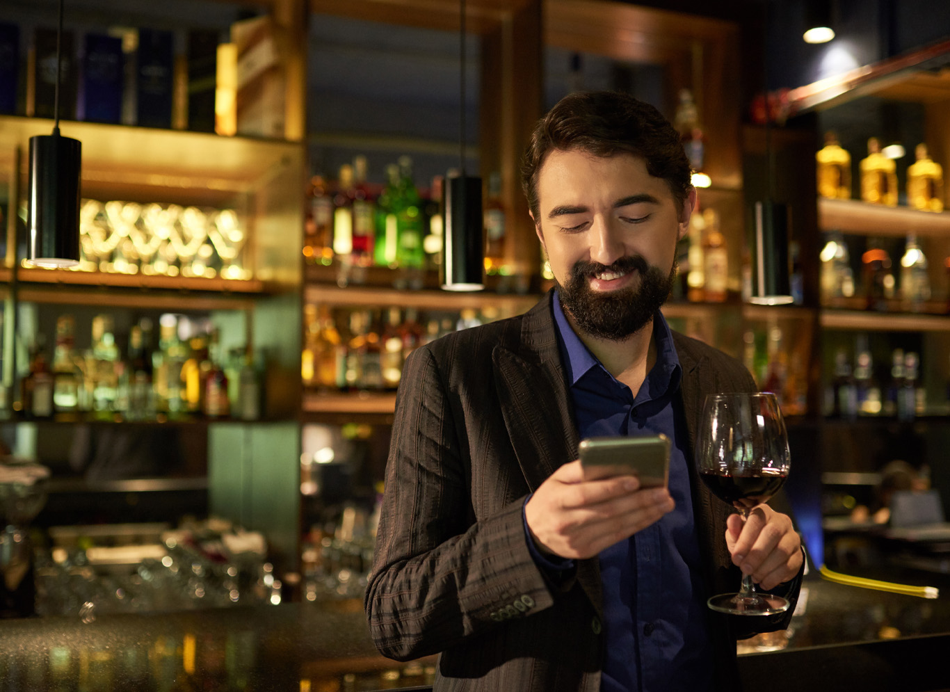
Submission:
<svg viewBox="0 0 950 692">
<path fill-rule="evenodd" d="M 656 488 L 665 486 L 670 475 L 670 438 L 662 433 L 588 437 L 580 441 L 578 451 L 587 480 L 636 475 L 641 488 Z"/>
</svg>

